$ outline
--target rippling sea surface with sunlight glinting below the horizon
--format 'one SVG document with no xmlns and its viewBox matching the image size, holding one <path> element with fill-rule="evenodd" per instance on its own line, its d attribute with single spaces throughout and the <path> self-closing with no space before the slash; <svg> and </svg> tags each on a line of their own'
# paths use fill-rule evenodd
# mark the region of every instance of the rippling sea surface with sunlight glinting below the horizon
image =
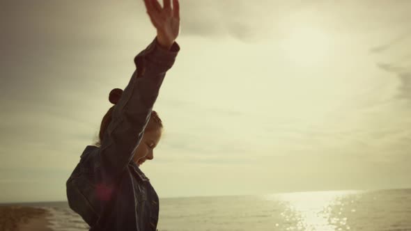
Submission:
<svg viewBox="0 0 411 231">
<path fill-rule="evenodd" d="M 55 231 L 88 230 L 67 202 L 20 205 L 49 210 Z M 411 231 L 411 189 L 162 198 L 158 229 Z"/>
</svg>

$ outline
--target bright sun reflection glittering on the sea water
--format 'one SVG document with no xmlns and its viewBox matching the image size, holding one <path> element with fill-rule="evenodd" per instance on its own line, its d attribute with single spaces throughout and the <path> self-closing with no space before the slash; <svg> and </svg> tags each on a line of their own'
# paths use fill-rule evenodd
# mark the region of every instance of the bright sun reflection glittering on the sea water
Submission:
<svg viewBox="0 0 411 231">
<path fill-rule="evenodd" d="M 281 212 L 283 224 L 275 226 L 282 230 L 341 231 L 350 230 L 348 218 L 343 216 L 343 198 L 358 191 L 321 191 L 282 193 L 266 196 L 284 207 Z M 281 227 L 280 227 L 281 226 Z"/>
</svg>

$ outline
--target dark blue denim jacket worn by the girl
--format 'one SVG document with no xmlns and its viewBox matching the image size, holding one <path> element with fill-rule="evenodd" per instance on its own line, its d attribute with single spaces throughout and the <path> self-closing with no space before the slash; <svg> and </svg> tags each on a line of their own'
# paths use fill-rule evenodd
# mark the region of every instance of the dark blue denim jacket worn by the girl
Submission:
<svg viewBox="0 0 411 231">
<path fill-rule="evenodd" d="M 70 208 L 91 231 L 157 229 L 159 198 L 132 157 L 178 51 L 176 42 L 166 50 L 155 38 L 134 58 L 137 70 L 114 106 L 100 148 L 86 146 L 66 182 Z"/>
</svg>

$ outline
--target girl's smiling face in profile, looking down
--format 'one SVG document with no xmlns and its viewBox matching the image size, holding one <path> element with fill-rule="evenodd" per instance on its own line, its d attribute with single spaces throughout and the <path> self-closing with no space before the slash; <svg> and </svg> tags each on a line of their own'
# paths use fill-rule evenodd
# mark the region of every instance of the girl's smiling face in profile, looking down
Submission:
<svg viewBox="0 0 411 231">
<path fill-rule="evenodd" d="M 161 127 L 148 129 L 144 132 L 143 138 L 139 146 L 137 146 L 137 150 L 134 152 L 133 161 L 137 166 L 141 166 L 146 160 L 152 160 L 154 158 L 153 150 L 160 142 L 161 135 Z"/>
</svg>

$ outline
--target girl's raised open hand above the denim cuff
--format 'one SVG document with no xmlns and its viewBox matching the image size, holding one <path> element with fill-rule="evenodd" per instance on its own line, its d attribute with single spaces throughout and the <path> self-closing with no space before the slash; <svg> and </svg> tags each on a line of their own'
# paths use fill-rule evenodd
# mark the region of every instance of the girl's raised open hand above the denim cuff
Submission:
<svg viewBox="0 0 411 231">
<path fill-rule="evenodd" d="M 157 0 L 144 0 L 150 20 L 157 29 L 157 41 L 170 49 L 180 33 L 180 4 L 178 0 L 163 0 L 163 7 Z"/>
</svg>

